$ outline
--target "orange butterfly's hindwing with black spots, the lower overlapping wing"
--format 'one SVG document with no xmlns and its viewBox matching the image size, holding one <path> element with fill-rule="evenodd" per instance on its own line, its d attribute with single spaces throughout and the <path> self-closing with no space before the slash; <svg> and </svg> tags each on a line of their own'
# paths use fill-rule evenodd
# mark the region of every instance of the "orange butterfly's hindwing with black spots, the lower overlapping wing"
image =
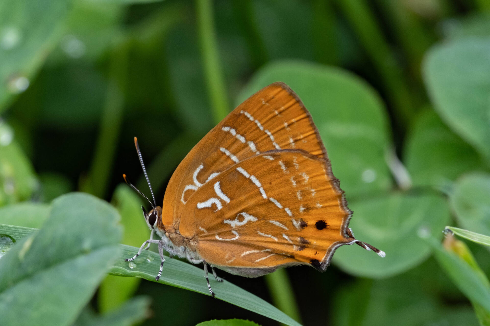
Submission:
<svg viewBox="0 0 490 326">
<path fill-rule="evenodd" d="M 323 269 L 333 248 L 352 240 L 343 233 L 349 213 L 341 200 L 323 159 L 305 151 L 271 151 L 200 187 L 185 205 L 179 230 L 197 239 L 205 261 L 230 272 L 226 266 L 264 273 L 297 263 Z"/>
</svg>

